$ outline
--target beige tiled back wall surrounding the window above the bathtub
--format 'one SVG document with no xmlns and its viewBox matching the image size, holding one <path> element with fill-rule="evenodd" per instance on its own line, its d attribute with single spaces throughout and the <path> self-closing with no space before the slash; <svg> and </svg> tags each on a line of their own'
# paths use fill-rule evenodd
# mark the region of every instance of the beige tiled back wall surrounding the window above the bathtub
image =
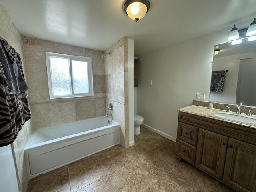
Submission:
<svg viewBox="0 0 256 192">
<path fill-rule="evenodd" d="M 106 114 L 102 51 L 29 37 L 23 37 L 23 48 L 34 129 Z M 45 52 L 92 57 L 94 96 L 49 99 Z"/>
</svg>

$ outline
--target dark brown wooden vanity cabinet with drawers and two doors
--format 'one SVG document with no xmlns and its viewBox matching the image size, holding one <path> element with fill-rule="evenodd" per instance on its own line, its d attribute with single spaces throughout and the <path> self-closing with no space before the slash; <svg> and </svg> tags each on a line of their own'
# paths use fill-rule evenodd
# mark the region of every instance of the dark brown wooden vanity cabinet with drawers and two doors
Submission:
<svg viewBox="0 0 256 192">
<path fill-rule="evenodd" d="M 187 129 L 198 130 L 190 133 L 196 144 Z M 256 192 L 256 129 L 179 112 L 176 149 L 179 159 L 234 190 Z"/>
</svg>

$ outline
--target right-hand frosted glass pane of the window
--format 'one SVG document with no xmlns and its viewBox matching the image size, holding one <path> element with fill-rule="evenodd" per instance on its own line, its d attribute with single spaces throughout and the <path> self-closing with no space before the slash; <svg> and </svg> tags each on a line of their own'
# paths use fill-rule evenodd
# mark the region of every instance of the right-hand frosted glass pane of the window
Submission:
<svg viewBox="0 0 256 192">
<path fill-rule="evenodd" d="M 72 78 L 75 94 L 89 92 L 87 62 L 72 61 Z"/>
</svg>

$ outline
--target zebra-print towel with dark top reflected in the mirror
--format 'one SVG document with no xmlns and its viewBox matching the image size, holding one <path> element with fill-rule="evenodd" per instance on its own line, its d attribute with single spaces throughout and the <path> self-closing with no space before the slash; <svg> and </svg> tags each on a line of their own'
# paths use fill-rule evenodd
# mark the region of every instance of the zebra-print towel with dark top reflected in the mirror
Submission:
<svg viewBox="0 0 256 192">
<path fill-rule="evenodd" d="M 213 71 L 210 92 L 223 92 L 225 71 Z"/>
</svg>

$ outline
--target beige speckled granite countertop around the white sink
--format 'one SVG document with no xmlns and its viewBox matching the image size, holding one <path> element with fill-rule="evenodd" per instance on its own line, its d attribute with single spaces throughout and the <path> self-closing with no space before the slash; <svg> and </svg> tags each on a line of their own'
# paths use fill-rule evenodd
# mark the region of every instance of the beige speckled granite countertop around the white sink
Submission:
<svg viewBox="0 0 256 192">
<path fill-rule="evenodd" d="M 226 110 L 220 110 L 220 109 L 214 109 L 214 108 L 209 109 L 208 107 L 202 107 L 202 106 L 196 106 L 196 105 L 191 105 L 191 106 L 187 106 L 184 108 L 180 108 L 180 109 L 178 109 L 178 111 L 256 129 L 256 123 L 247 123 L 247 122 L 229 120 L 226 118 L 221 118 L 221 117 L 213 115 L 213 113 L 226 113 L 226 114 L 234 114 L 234 115 L 238 115 L 238 116 L 244 116 L 246 118 L 252 118 L 252 119 L 256 120 L 256 116 L 247 116 L 245 113 L 236 114 L 236 112 L 226 112 Z"/>
</svg>

